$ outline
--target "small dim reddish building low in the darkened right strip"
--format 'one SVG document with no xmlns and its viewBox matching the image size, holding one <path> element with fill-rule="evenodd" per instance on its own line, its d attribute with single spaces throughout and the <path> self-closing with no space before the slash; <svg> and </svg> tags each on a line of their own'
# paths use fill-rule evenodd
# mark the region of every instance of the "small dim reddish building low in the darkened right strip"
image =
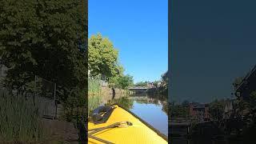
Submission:
<svg viewBox="0 0 256 144">
<path fill-rule="evenodd" d="M 199 122 L 210 119 L 209 106 L 207 104 L 190 103 L 190 117 L 198 119 Z"/>
</svg>

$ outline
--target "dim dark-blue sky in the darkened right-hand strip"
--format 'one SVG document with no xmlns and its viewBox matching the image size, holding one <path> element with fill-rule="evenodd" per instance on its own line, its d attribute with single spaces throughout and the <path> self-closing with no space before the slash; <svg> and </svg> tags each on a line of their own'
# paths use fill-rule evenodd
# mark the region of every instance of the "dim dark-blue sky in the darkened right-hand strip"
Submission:
<svg viewBox="0 0 256 144">
<path fill-rule="evenodd" d="M 175 0 L 170 98 L 232 98 L 234 78 L 256 64 L 256 2 Z"/>
</svg>

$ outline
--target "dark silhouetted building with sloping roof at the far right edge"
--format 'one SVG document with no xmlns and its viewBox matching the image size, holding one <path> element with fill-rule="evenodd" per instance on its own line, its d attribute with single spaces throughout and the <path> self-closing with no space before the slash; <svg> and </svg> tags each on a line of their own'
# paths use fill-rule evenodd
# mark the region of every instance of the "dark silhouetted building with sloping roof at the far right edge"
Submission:
<svg viewBox="0 0 256 144">
<path fill-rule="evenodd" d="M 246 100 L 254 90 L 256 90 L 256 65 L 250 70 L 246 77 L 242 79 L 238 88 L 234 90 L 234 95 Z"/>
</svg>

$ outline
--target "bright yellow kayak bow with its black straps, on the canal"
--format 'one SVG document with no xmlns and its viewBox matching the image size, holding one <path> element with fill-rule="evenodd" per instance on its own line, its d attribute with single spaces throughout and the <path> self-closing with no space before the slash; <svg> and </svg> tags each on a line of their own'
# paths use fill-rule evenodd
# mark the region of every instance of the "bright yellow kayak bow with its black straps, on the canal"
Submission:
<svg viewBox="0 0 256 144">
<path fill-rule="evenodd" d="M 111 107 L 105 122 L 88 122 L 88 143 L 168 143 L 165 135 L 129 110 L 116 104 Z"/>
</svg>

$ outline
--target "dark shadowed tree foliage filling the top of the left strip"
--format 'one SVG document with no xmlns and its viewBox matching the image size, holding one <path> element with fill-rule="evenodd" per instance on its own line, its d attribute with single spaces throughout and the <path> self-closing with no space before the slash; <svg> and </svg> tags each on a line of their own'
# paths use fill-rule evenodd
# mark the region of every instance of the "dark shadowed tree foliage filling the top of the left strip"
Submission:
<svg viewBox="0 0 256 144">
<path fill-rule="evenodd" d="M 86 51 L 78 49 L 87 42 L 87 3 L 0 2 L 0 58 L 10 69 L 6 85 L 27 86 L 38 75 L 57 83 L 60 100 L 80 105 L 87 90 Z"/>
</svg>

